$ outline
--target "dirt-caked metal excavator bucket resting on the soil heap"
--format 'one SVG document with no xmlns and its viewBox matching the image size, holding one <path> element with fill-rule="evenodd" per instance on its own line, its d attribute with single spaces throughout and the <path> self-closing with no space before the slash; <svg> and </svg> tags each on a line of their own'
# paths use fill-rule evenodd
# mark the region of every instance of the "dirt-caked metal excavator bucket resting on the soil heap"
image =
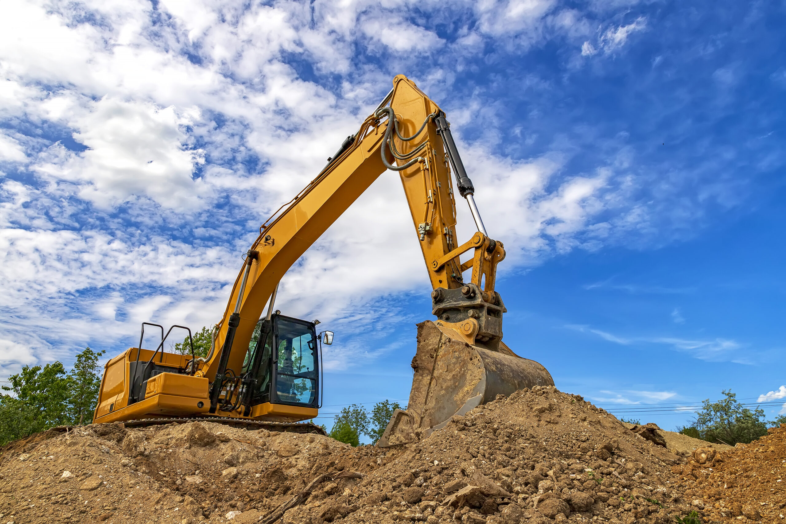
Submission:
<svg viewBox="0 0 786 524">
<path fill-rule="evenodd" d="M 417 324 L 415 372 L 407 409 L 396 409 L 377 443 L 387 448 L 427 438 L 478 405 L 533 386 L 553 386 L 542 365 L 519 357 L 504 343 L 488 350 L 442 321 Z"/>
</svg>

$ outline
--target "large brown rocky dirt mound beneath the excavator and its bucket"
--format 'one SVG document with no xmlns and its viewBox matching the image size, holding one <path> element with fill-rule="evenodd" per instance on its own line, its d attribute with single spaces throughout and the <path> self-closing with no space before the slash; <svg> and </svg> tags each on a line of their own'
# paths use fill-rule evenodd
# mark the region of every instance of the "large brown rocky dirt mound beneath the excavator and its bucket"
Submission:
<svg viewBox="0 0 786 524">
<path fill-rule="evenodd" d="M 101 424 L 3 453 L 0 522 L 665 524 L 695 508 L 671 471 L 684 463 L 553 387 L 388 449 L 219 423 Z"/>
</svg>

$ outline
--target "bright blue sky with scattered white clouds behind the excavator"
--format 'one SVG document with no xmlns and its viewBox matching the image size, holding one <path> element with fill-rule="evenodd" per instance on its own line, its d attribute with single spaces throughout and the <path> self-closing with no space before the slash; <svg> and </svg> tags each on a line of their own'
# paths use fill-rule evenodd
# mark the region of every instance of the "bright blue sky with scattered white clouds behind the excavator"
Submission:
<svg viewBox="0 0 786 524">
<path fill-rule="evenodd" d="M 403 73 L 448 113 L 505 243 L 513 350 L 607 409 L 731 388 L 786 412 L 783 2 L 9 9 L 2 376 L 86 345 L 117 354 L 141 321 L 218 321 L 259 224 Z M 281 310 L 336 331 L 323 421 L 406 399 L 428 291 L 385 174 L 282 282 Z"/>
</svg>

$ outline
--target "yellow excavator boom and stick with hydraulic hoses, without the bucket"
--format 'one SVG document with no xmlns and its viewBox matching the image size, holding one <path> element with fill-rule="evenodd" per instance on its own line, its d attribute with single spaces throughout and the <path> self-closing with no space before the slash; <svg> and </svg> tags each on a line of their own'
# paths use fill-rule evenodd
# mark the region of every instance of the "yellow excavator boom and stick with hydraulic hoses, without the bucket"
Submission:
<svg viewBox="0 0 786 524">
<path fill-rule="evenodd" d="M 200 367 L 198 376 L 215 380 L 226 368 L 241 368 L 255 325 L 281 277 L 388 169 L 399 172 L 435 290 L 435 304 L 449 306 L 437 307 L 439 316 L 451 324 L 467 324 L 462 330 L 473 339 L 483 339 L 487 344 L 501 339 L 504 306 L 494 291 L 494 277 L 498 262 L 505 258 L 505 249 L 481 231 L 457 244 L 449 164 L 454 167 L 461 196 L 472 199 L 474 189 L 450 135 L 450 124 L 442 109 L 415 82 L 399 75 L 393 85 L 381 107 L 347 138 L 317 178 L 260 227 L 218 324 L 214 343 L 217 350 Z M 474 200 L 471 202 L 482 229 Z M 460 256 L 467 251 L 472 251 L 472 258 L 462 264 Z M 472 277 L 465 283 L 462 273 L 470 268 Z M 450 292 L 462 288 L 467 288 L 463 295 Z M 467 300 L 458 297 L 468 297 L 478 307 L 463 315 L 458 305 Z"/>
</svg>

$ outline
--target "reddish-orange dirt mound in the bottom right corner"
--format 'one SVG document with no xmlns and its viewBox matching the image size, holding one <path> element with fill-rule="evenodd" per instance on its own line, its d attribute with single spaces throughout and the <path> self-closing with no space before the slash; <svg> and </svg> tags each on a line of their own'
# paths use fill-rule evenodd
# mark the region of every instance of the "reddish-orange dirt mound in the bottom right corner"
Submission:
<svg viewBox="0 0 786 524">
<path fill-rule="evenodd" d="M 729 451 L 696 449 L 688 464 L 674 467 L 691 503 L 711 522 L 786 518 L 786 424 L 751 444 Z"/>
</svg>

